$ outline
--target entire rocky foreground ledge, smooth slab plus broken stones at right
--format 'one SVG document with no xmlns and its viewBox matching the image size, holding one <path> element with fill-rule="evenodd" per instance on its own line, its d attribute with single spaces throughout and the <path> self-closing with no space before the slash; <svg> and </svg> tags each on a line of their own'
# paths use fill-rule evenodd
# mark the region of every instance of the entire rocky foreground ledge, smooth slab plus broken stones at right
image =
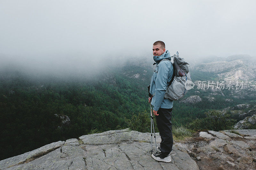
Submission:
<svg viewBox="0 0 256 170">
<path fill-rule="evenodd" d="M 254 169 L 256 130 L 237 133 L 202 131 L 174 142 L 172 161 L 165 163 L 151 158 L 150 133 L 110 130 L 1 160 L 0 169 Z"/>
</svg>

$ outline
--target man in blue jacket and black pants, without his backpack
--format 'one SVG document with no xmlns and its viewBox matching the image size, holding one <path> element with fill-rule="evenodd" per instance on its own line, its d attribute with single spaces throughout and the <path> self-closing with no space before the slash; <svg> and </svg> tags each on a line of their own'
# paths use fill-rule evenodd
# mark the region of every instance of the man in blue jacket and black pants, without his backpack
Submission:
<svg viewBox="0 0 256 170">
<path fill-rule="evenodd" d="M 173 65 L 168 61 L 171 60 L 171 56 L 168 50 L 165 51 L 163 41 L 156 41 L 153 44 L 153 55 L 154 61 L 156 62 L 156 69 L 151 78 L 149 92 L 152 96 L 148 98 L 148 102 L 152 100 L 151 105 L 153 106 L 153 113 L 156 117 L 156 123 L 162 141 L 160 147 L 157 147 L 158 152 L 151 156 L 157 161 L 171 162 L 173 100 L 164 99 L 164 93 L 167 85 L 172 80 Z M 167 60 L 162 61 L 164 59 Z"/>
</svg>

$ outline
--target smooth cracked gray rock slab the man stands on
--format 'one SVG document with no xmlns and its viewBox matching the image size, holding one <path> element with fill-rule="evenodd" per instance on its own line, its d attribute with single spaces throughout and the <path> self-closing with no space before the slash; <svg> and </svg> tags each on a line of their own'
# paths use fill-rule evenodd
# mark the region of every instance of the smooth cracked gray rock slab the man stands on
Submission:
<svg viewBox="0 0 256 170">
<path fill-rule="evenodd" d="M 154 139 L 154 137 L 153 137 Z M 156 133 L 159 145 L 161 138 Z M 188 153 L 173 146 L 170 163 L 151 158 L 150 133 L 110 130 L 45 145 L 0 161 L 0 169 L 193 169 L 199 167 Z M 155 143 L 153 142 L 153 150 Z M 155 150 L 154 150 L 155 152 Z"/>
</svg>

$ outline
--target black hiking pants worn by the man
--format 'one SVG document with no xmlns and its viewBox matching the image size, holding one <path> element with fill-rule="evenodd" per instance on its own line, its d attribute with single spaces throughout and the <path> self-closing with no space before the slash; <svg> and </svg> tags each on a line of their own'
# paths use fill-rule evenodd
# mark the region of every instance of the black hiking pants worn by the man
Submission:
<svg viewBox="0 0 256 170">
<path fill-rule="evenodd" d="M 166 157 L 172 151 L 172 108 L 159 108 L 156 116 L 156 124 L 159 130 L 159 135 L 162 139 L 160 143 L 161 153 Z"/>
</svg>

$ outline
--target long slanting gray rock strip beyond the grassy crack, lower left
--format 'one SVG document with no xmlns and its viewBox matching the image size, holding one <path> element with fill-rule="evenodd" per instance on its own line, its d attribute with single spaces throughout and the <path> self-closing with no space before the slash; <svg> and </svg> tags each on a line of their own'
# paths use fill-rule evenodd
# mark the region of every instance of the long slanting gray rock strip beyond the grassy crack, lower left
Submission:
<svg viewBox="0 0 256 170">
<path fill-rule="evenodd" d="M 53 142 L 51 144 L 44 145 L 38 149 L 35 149 L 30 152 L 23 153 L 18 156 L 14 156 L 12 158 L 7 158 L 4 160 L 0 161 L 0 169 L 7 168 L 9 166 L 14 166 L 18 164 L 22 164 L 26 161 L 33 160 L 35 157 L 42 156 L 48 152 L 53 151 L 56 148 L 59 148 L 61 145 L 63 145 L 65 142 L 64 141 L 58 141 L 58 142 Z"/>
</svg>

